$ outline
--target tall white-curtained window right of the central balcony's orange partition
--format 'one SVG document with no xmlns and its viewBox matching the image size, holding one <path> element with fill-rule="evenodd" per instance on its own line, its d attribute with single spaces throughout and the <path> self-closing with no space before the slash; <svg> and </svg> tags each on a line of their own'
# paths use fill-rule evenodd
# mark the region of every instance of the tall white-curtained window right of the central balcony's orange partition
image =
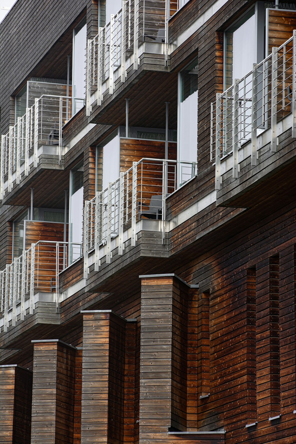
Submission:
<svg viewBox="0 0 296 444">
<path fill-rule="evenodd" d="M 182 71 L 178 80 L 178 184 L 192 177 L 192 162 L 197 161 L 198 60 Z M 191 163 L 191 164 L 190 164 Z"/>
</svg>

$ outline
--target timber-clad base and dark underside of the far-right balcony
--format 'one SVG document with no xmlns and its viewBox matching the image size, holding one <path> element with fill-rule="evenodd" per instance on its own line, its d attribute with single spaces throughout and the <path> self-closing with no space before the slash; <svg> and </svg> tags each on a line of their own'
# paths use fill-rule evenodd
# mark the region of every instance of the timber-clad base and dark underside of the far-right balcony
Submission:
<svg viewBox="0 0 296 444">
<path fill-rule="evenodd" d="M 264 137 L 257 138 L 261 146 Z M 291 129 L 284 131 L 278 137 L 278 146 L 275 153 L 271 152 L 270 143 L 258 150 L 257 165 L 251 165 L 251 143 L 239 151 L 245 151 L 241 160 L 238 178 L 233 178 L 232 154 L 228 159 L 221 160 L 222 184 L 217 191 L 217 205 L 227 207 L 251 208 L 272 198 L 272 205 L 276 202 L 289 204 L 295 200 L 296 182 L 296 142 L 292 138 Z M 240 152 L 239 152 L 240 156 Z M 240 160 L 240 158 L 239 158 Z M 228 166 L 227 166 L 228 164 Z"/>
</svg>

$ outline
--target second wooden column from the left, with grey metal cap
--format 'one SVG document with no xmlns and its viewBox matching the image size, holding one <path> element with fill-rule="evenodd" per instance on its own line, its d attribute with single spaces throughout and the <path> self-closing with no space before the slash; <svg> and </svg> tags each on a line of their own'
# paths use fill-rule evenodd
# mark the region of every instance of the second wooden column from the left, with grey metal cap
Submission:
<svg viewBox="0 0 296 444">
<path fill-rule="evenodd" d="M 31 443 L 72 444 L 76 349 L 58 339 L 32 342 Z"/>
</svg>

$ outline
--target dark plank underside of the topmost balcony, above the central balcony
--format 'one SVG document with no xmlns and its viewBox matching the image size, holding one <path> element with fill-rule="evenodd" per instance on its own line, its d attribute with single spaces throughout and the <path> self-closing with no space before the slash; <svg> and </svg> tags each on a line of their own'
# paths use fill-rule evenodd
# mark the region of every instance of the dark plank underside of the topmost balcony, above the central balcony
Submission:
<svg viewBox="0 0 296 444">
<path fill-rule="evenodd" d="M 131 70 L 125 83 L 118 79 L 112 95 L 106 92 L 100 107 L 92 104 L 90 122 L 125 125 L 126 98 L 129 99 L 129 126 L 165 128 L 165 102 L 170 102 L 169 128 L 177 128 L 178 73 L 147 71 L 145 64 L 138 71 Z"/>
</svg>

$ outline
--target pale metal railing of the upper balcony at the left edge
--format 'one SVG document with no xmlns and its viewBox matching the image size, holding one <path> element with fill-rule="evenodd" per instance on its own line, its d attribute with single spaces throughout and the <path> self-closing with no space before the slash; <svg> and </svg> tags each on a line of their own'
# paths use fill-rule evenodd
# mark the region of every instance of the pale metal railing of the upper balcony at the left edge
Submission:
<svg viewBox="0 0 296 444">
<path fill-rule="evenodd" d="M 5 191 L 12 190 L 14 181 L 20 183 L 22 172 L 28 176 L 30 167 L 38 165 L 40 145 L 57 145 L 61 163 L 62 127 L 71 119 L 73 100 L 75 107 L 84 103 L 84 99 L 42 95 L 9 127 L 8 133 L 1 136 L 0 199 L 4 198 Z"/>
</svg>

